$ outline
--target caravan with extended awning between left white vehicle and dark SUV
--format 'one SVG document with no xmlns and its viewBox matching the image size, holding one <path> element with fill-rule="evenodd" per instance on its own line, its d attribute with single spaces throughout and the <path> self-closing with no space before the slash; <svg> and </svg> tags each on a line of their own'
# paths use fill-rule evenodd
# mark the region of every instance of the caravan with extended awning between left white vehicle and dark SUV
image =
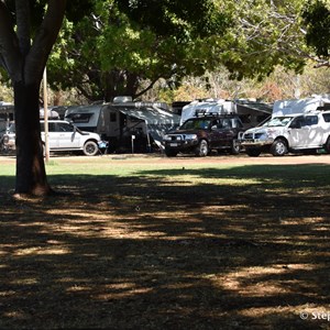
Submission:
<svg viewBox="0 0 330 330">
<path fill-rule="evenodd" d="M 110 152 L 160 148 L 163 136 L 179 125 L 179 118 L 168 111 L 166 103 L 121 99 L 111 103 L 70 107 L 65 113 L 65 119 L 78 128 L 97 132 L 109 141 Z"/>
</svg>

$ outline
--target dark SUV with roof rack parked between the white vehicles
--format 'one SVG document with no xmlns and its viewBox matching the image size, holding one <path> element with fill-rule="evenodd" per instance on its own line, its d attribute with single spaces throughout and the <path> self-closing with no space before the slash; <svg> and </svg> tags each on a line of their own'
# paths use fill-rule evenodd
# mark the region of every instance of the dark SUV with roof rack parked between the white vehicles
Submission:
<svg viewBox="0 0 330 330">
<path fill-rule="evenodd" d="M 188 119 L 176 131 L 167 133 L 163 143 L 168 157 L 180 153 L 207 156 L 211 150 L 240 152 L 238 135 L 243 124 L 237 114 L 205 114 Z"/>
</svg>

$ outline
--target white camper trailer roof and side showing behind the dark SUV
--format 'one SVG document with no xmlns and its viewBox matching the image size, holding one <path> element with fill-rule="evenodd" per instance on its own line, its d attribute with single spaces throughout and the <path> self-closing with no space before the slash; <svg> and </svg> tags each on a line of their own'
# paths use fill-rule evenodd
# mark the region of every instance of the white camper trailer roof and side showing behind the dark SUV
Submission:
<svg viewBox="0 0 330 330">
<path fill-rule="evenodd" d="M 201 99 L 185 106 L 180 124 L 187 119 L 202 113 L 238 114 L 245 129 L 257 125 L 272 113 L 272 106 L 251 100 Z"/>
</svg>

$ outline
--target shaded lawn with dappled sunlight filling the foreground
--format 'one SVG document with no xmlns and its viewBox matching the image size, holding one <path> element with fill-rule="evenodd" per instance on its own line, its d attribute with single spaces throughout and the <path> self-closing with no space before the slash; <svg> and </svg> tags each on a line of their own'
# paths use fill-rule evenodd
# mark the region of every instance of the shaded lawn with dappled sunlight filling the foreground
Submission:
<svg viewBox="0 0 330 330">
<path fill-rule="evenodd" d="M 1 178 L 0 329 L 329 327 L 328 165 L 105 173 Z"/>
</svg>

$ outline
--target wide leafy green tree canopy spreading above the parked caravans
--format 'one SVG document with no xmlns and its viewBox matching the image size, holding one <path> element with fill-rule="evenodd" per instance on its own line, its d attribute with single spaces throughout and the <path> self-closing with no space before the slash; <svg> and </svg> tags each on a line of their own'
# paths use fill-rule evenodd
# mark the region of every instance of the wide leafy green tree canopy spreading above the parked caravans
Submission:
<svg viewBox="0 0 330 330">
<path fill-rule="evenodd" d="M 224 65 L 232 78 L 301 72 L 316 59 L 306 43 L 304 1 L 95 0 L 78 24 L 66 23 L 48 63 L 54 88 L 89 100 L 140 97 L 164 78 L 178 86 Z M 319 59 L 319 58 L 317 58 Z M 54 69 L 53 69 L 54 68 Z M 142 81 L 148 81 L 143 85 Z"/>
</svg>

